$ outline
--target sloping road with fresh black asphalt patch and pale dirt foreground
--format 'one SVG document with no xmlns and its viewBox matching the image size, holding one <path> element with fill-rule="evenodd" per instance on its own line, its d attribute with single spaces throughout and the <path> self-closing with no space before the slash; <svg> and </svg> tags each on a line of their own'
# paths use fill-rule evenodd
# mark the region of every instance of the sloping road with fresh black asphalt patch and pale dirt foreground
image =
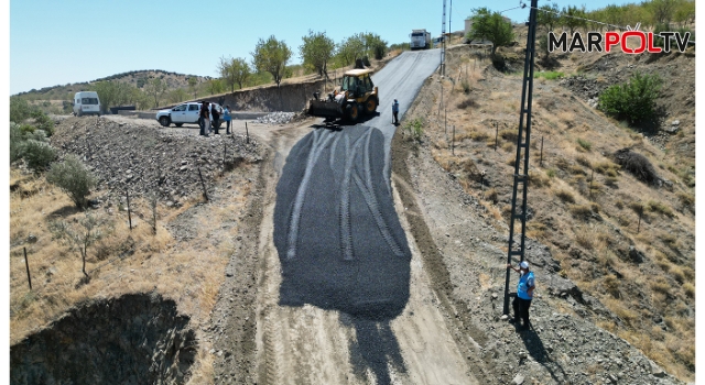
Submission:
<svg viewBox="0 0 705 385">
<path fill-rule="evenodd" d="M 403 113 L 437 57 L 405 53 L 376 74 L 381 106 L 397 98 Z M 245 292 L 256 289 L 257 308 L 239 312 L 245 322 L 226 316 L 243 290 L 229 282 L 214 316 L 226 319 L 217 351 L 246 353 L 237 341 L 254 334 L 256 353 L 217 360 L 216 383 L 477 383 L 398 213 L 388 110 L 341 131 L 304 124 L 272 134 L 261 223 L 248 238 L 258 273 Z"/>
</svg>

